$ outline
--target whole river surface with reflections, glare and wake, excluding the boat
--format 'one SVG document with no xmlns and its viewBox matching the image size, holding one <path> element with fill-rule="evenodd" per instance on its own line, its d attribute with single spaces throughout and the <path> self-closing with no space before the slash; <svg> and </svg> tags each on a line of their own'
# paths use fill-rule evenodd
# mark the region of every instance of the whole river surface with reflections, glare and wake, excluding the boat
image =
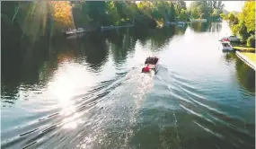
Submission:
<svg viewBox="0 0 256 149">
<path fill-rule="evenodd" d="M 226 22 L 127 28 L 9 53 L 1 147 L 255 148 L 255 72 L 218 48 L 230 33 Z M 148 56 L 157 74 L 140 73 Z"/>
</svg>

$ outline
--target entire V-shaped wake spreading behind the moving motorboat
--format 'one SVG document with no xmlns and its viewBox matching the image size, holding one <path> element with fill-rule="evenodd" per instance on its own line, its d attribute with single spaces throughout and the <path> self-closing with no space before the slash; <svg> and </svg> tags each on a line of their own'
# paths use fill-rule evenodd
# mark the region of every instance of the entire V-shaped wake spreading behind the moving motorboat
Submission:
<svg viewBox="0 0 256 149">
<path fill-rule="evenodd" d="M 1 147 L 222 148 L 225 142 L 234 148 L 254 146 L 254 133 L 249 131 L 254 125 L 208 100 L 188 78 L 163 66 L 157 74 L 140 71 L 119 73 L 73 95 L 65 109 L 49 110 L 49 115 L 2 131 Z M 188 142 L 195 133 L 204 142 L 200 146 Z"/>
</svg>

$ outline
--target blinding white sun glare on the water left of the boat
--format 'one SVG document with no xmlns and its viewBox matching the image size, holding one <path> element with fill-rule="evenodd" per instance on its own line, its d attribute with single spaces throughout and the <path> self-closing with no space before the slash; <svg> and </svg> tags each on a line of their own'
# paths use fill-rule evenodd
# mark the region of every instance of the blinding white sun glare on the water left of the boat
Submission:
<svg viewBox="0 0 256 149">
<path fill-rule="evenodd" d="M 92 84 L 93 77 L 86 74 L 80 66 L 63 63 L 61 67 L 54 82 L 49 83 L 49 90 L 57 100 L 57 106 L 62 109 L 60 115 L 64 118 L 62 121 L 64 128 L 75 128 L 79 114 L 76 113 L 75 101 L 72 98 L 79 88 Z"/>
</svg>

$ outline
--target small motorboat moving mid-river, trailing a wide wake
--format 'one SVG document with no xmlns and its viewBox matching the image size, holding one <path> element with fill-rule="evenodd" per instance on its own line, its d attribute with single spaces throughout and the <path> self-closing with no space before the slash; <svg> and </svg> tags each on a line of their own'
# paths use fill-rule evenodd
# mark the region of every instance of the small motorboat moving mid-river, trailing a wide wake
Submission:
<svg viewBox="0 0 256 149">
<path fill-rule="evenodd" d="M 149 71 L 146 71 L 146 67 L 149 68 Z M 145 67 L 142 68 L 142 73 L 149 73 L 153 70 L 156 74 L 159 67 L 159 58 L 158 57 L 147 57 L 145 61 Z"/>
</svg>

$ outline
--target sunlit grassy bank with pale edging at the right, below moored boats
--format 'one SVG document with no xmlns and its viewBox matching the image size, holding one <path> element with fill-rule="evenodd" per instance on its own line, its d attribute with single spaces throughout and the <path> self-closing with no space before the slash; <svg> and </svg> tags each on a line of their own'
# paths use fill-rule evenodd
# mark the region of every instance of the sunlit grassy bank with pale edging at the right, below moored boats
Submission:
<svg viewBox="0 0 256 149">
<path fill-rule="evenodd" d="M 256 60 L 255 60 L 255 53 L 249 53 L 249 52 L 235 52 L 236 56 L 239 57 L 246 65 L 252 67 L 253 70 L 255 70 L 256 67 Z"/>
</svg>

